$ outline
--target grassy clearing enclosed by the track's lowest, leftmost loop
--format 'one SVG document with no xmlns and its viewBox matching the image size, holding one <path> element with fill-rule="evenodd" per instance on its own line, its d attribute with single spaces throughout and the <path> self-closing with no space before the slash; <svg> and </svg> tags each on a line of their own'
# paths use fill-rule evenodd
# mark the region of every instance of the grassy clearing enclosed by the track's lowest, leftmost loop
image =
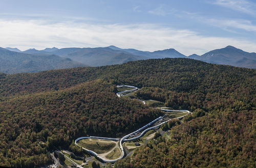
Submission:
<svg viewBox="0 0 256 168">
<path fill-rule="evenodd" d="M 91 138 L 81 139 L 77 144 L 83 148 L 92 150 L 97 154 L 106 153 L 116 146 L 115 141 Z"/>
</svg>

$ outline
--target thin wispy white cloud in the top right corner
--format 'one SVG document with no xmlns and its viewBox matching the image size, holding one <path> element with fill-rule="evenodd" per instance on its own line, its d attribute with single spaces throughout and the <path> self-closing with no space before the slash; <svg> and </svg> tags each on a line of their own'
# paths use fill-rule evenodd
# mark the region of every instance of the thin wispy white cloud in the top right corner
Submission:
<svg viewBox="0 0 256 168">
<path fill-rule="evenodd" d="M 215 2 L 212 4 L 256 16 L 256 4 L 246 0 L 215 0 Z"/>
</svg>

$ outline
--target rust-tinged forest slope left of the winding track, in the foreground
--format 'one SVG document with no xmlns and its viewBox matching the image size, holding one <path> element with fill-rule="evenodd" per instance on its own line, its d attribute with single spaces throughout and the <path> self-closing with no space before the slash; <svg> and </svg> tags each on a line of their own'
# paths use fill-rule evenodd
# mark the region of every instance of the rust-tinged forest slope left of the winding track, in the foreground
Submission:
<svg viewBox="0 0 256 168">
<path fill-rule="evenodd" d="M 0 102 L 2 165 L 46 164 L 54 146 L 69 147 L 79 136 L 120 136 L 161 115 L 138 101 L 119 99 L 114 88 L 96 80 Z"/>
</svg>

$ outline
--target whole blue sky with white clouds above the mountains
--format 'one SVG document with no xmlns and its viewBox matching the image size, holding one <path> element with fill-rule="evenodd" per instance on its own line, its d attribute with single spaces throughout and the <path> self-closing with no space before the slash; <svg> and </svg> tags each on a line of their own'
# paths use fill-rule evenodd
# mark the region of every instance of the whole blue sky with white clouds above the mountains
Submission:
<svg viewBox="0 0 256 168">
<path fill-rule="evenodd" d="M 0 46 L 256 52 L 256 0 L 0 0 Z"/>
</svg>

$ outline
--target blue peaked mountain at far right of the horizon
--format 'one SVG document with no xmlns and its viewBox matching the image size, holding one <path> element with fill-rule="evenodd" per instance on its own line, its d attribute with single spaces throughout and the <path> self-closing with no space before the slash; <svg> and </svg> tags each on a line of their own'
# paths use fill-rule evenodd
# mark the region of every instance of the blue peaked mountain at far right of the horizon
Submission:
<svg viewBox="0 0 256 168">
<path fill-rule="evenodd" d="M 213 64 L 223 64 L 254 69 L 256 68 L 256 53 L 245 52 L 233 46 L 215 49 L 201 56 L 193 54 L 188 58 Z"/>
</svg>

